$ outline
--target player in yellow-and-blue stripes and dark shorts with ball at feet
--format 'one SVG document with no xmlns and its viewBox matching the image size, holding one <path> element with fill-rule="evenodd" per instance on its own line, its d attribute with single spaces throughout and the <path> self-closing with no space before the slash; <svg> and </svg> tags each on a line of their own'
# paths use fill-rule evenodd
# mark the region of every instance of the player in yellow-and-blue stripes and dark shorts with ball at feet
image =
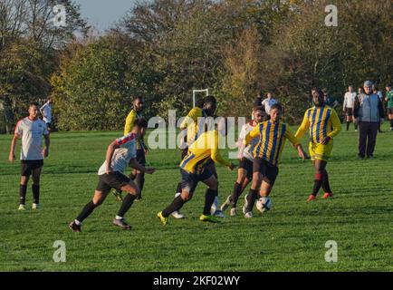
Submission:
<svg viewBox="0 0 393 290">
<path fill-rule="evenodd" d="M 256 125 L 253 131 L 244 138 L 243 146 L 247 146 L 254 138 L 258 138 L 253 152 L 253 183 L 249 194 L 244 198 L 244 218 L 253 218 L 254 203 L 258 196 L 268 198 L 272 192 L 275 179 L 278 176 L 278 163 L 285 140 L 291 141 L 302 160 L 306 159 L 302 145 L 289 131 L 287 125 L 280 121 L 282 111 L 281 104 L 273 104 L 270 110 L 270 120 Z"/>
</svg>

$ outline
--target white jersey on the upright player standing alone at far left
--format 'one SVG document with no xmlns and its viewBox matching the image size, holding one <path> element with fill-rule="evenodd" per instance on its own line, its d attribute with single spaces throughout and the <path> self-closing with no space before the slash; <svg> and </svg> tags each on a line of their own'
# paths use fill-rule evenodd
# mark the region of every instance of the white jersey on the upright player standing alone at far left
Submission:
<svg viewBox="0 0 393 290">
<path fill-rule="evenodd" d="M 16 123 L 14 134 L 22 138 L 21 160 L 43 160 L 43 135 L 48 135 L 46 124 L 26 117 Z"/>
</svg>

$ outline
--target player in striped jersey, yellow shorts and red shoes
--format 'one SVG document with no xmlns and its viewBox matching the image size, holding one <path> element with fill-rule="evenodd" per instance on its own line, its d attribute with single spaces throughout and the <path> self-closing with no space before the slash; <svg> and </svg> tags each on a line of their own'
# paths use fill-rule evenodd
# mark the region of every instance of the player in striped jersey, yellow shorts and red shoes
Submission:
<svg viewBox="0 0 393 290">
<path fill-rule="evenodd" d="M 315 200 L 321 187 L 325 192 L 323 198 L 333 197 L 326 165 L 331 157 L 333 138 L 341 131 L 340 119 L 334 109 L 325 105 L 323 92 L 312 92 L 312 102 L 314 106 L 305 112 L 302 125 L 295 134 L 296 139 L 301 140 L 305 132 L 310 130 L 309 150 L 315 179 L 307 202 Z"/>
</svg>

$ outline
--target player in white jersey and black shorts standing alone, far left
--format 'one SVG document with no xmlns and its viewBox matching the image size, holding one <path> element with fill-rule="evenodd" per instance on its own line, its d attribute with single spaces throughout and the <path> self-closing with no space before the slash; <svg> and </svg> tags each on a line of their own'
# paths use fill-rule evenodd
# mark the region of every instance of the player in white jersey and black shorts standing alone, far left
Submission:
<svg viewBox="0 0 393 290">
<path fill-rule="evenodd" d="M 24 210 L 26 201 L 27 183 L 30 176 L 33 179 L 33 209 L 39 208 L 40 205 L 40 177 L 43 169 L 43 159 L 49 155 L 49 131 L 44 121 L 38 118 L 39 106 L 36 102 L 29 105 L 29 116 L 18 121 L 14 138 L 11 142 L 11 150 L 8 157 L 10 162 L 15 160 L 15 146 L 18 139 L 22 139 L 21 148 L 21 184 L 19 188 L 19 210 Z M 43 138 L 45 147 L 42 149 Z"/>
</svg>

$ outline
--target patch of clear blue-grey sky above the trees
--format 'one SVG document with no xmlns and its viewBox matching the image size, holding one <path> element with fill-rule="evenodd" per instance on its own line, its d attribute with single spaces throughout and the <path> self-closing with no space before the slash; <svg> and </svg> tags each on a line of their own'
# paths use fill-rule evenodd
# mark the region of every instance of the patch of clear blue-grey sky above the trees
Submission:
<svg viewBox="0 0 393 290">
<path fill-rule="evenodd" d="M 110 28 L 126 14 L 136 0 L 74 0 L 81 5 L 81 15 L 99 31 Z"/>
</svg>

